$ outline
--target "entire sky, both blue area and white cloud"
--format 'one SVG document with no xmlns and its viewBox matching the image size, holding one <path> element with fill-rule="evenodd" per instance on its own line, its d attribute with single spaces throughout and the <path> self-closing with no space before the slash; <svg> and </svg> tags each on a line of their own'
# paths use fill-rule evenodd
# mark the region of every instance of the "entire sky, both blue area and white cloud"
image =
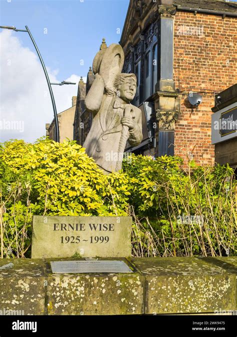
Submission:
<svg viewBox="0 0 237 337">
<path fill-rule="evenodd" d="M 28 26 L 51 82 L 57 112 L 71 106 L 80 76 L 102 38 L 121 37 L 129 0 L 0 0 L 0 25 Z M 0 29 L 0 142 L 33 142 L 45 135 L 53 110 L 43 69 L 28 33 Z M 10 129 L 9 129 L 10 128 Z"/>
</svg>

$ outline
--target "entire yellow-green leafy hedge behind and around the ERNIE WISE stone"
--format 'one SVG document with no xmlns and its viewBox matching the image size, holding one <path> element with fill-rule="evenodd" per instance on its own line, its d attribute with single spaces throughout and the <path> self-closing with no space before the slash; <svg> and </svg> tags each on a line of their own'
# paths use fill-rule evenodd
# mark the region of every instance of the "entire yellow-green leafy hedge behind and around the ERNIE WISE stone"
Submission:
<svg viewBox="0 0 237 337">
<path fill-rule="evenodd" d="M 120 172 L 104 175 L 74 141 L 11 140 L 0 146 L 0 187 L 1 257 L 29 257 L 33 214 L 130 214 L 135 256 L 236 251 L 228 166 L 190 162 L 186 171 L 179 157 L 132 154 Z"/>
</svg>

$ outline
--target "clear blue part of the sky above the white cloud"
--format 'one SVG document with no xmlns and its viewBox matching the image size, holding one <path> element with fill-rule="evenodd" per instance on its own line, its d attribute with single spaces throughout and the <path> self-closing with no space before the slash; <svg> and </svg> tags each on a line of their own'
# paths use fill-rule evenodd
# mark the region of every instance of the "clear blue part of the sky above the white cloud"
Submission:
<svg viewBox="0 0 237 337">
<path fill-rule="evenodd" d="M 117 28 L 121 32 L 129 1 L 80 1 L 0 0 L 0 22 L 21 29 L 27 25 L 44 63 L 58 69 L 61 80 L 72 73 L 85 76 L 102 37 L 108 44 L 119 41 Z M 26 33 L 14 34 L 34 51 Z"/>
</svg>

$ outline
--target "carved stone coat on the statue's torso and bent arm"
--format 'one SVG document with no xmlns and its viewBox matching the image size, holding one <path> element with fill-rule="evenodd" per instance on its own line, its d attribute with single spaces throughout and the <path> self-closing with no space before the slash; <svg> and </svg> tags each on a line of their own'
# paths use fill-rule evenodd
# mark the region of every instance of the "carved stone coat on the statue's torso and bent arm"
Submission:
<svg viewBox="0 0 237 337">
<path fill-rule="evenodd" d="M 118 145 L 125 105 L 127 103 L 120 98 L 104 94 L 100 109 L 94 114 L 91 128 L 83 143 L 88 156 L 93 157 L 97 165 L 107 172 L 115 171 L 117 160 L 122 160 L 123 151 L 119 155 Z M 136 125 L 128 131 L 128 142 L 131 146 L 136 146 L 142 140 L 141 110 L 132 104 L 129 105 L 133 109 L 131 117 Z"/>
</svg>

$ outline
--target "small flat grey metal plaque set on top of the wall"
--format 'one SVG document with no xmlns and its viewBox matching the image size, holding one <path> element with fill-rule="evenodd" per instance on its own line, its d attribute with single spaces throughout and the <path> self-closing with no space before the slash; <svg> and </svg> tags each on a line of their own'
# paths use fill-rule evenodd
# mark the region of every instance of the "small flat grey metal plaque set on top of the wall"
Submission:
<svg viewBox="0 0 237 337">
<path fill-rule="evenodd" d="M 124 261 L 51 261 L 52 273 L 132 272 Z"/>
</svg>

